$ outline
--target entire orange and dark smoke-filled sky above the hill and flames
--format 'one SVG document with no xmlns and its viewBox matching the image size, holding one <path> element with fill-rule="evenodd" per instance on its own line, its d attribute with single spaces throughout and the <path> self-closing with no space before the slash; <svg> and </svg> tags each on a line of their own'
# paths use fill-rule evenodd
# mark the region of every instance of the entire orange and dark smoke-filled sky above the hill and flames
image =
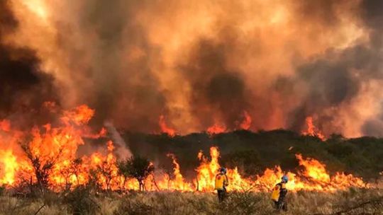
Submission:
<svg viewBox="0 0 383 215">
<path fill-rule="evenodd" d="M 179 134 L 239 129 L 247 112 L 252 130 L 313 116 L 327 135 L 381 135 L 382 1 L 165 2 L 3 1 L 2 117 L 57 100 L 139 132 L 160 115 Z"/>
</svg>

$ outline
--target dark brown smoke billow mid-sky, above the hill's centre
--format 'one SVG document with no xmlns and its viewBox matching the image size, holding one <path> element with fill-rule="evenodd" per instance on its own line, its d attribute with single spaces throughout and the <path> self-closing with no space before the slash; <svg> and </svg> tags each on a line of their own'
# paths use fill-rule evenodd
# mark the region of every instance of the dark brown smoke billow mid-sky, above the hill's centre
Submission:
<svg viewBox="0 0 383 215">
<path fill-rule="evenodd" d="M 227 68 L 226 53 L 231 42 L 216 44 L 201 40 L 181 69 L 192 90 L 190 105 L 202 127 L 209 127 L 216 119 L 223 119 L 228 129 L 238 128 L 243 111 L 250 108 L 249 92 L 243 76 Z M 213 114 L 213 115 L 212 115 Z"/>
</svg>

